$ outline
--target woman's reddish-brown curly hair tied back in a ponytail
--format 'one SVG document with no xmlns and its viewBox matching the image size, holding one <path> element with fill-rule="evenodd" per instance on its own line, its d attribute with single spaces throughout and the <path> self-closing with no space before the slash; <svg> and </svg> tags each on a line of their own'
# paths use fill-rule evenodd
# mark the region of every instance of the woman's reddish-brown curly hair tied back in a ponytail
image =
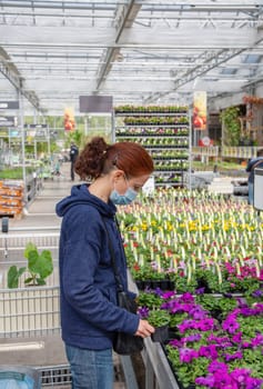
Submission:
<svg viewBox="0 0 263 389">
<path fill-rule="evenodd" d="M 108 144 L 103 138 L 94 137 L 85 144 L 74 164 L 82 180 L 108 174 L 114 168 L 123 170 L 128 178 L 139 177 L 153 171 L 153 161 L 139 143 Z"/>
</svg>

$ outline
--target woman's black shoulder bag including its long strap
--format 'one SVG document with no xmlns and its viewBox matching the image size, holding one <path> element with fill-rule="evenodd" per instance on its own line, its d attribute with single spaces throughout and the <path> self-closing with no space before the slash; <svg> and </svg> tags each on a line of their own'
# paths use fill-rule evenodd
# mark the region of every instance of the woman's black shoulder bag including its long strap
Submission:
<svg viewBox="0 0 263 389">
<path fill-rule="evenodd" d="M 103 220 L 103 219 L 102 219 Z M 104 220 L 103 220 L 104 222 Z M 113 252 L 113 248 L 110 241 L 109 232 L 104 222 L 105 227 L 105 232 L 107 232 L 107 238 L 109 242 L 109 248 L 111 252 L 111 263 L 112 263 L 112 269 L 114 272 L 115 277 L 115 282 L 117 282 L 117 299 L 118 299 L 118 305 L 121 308 L 127 309 L 131 313 L 136 313 L 136 302 L 134 299 L 130 298 L 130 296 L 123 290 L 120 276 L 117 270 L 117 265 L 115 265 L 115 257 Z M 127 332 L 117 332 L 115 338 L 113 340 L 113 350 L 122 356 L 129 356 L 133 352 L 139 352 L 143 349 L 143 338 L 138 337 L 135 335 L 130 335 Z"/>
</svg>

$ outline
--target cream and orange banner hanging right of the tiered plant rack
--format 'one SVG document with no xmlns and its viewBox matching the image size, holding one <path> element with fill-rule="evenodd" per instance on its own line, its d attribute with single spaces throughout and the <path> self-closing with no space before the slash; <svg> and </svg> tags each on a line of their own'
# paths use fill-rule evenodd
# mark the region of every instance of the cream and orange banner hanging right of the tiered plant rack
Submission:
<svg viewBox="0 0 263 389">
<path fill-rule="evenodd" d="M 193 93 L 193 129 L 194 130 L 206 130 L 206 92 L 195 91 Z"/>
</svg>

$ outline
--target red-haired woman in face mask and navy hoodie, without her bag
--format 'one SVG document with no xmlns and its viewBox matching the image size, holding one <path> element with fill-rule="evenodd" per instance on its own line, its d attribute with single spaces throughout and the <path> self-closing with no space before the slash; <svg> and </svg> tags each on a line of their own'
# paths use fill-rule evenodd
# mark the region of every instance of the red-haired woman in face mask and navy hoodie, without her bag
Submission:
<svg viewBox="0 0 263 389">
<path fill-rule="evenodd" d="M 153 162 L 140 144 L 107 144 L 103 138 L 93 138 L 74 169 L 81 179 L 93 180 L 72 187 L 71 196 L 57 205 L 57 213 L 63 217 L 59 255 L 62 339 L 72 388 L 112 389 L 115 332 L 145 338 L 154 328 L 117 305 L 105 226 L 122 285 L 128 290 L 115 206 L 134 200 L 152 173 Z"/>
</svg>

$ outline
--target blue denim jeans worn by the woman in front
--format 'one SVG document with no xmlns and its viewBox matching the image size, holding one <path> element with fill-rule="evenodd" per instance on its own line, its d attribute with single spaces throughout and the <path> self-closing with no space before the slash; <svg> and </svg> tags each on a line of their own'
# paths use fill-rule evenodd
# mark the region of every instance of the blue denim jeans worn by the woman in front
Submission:
<svg viewBox="0 0 263 389">
<path fill-rule="evenodd" d="M 65 345 L 72 389 L 112 389 L 112 349 L 88 350 Z"/>
</svg>

